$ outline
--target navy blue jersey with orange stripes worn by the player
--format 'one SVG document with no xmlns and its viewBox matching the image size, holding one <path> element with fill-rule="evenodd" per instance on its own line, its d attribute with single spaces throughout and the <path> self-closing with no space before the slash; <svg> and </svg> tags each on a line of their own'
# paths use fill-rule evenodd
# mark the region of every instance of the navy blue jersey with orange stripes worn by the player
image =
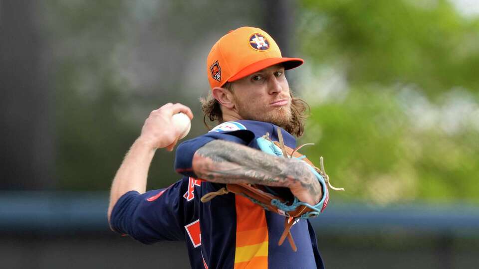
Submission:
<svg viewBox="0 0 479 269">
<path fill-rule="evenodd" d="M 227 122 L 181 143 L 175 169 L 184 177 L 163 190 L 124 194 L 112 211 L 112 228 L 146 244 L 184 240 L 195 269 L 324 268 L 309 221 L 301 219 L 292 226 L 297 246 L 297 252 L 293 252 L 287 241 L 277 245 L 284 230 L 284 216 L 233 193 L 206 203 L 200 201 L 203 195 L 225 185 L 197 177 L 192 169 L 196 150 L 215 139 L 258 148 L 256 138 L 266 133 L 278 140 L 276 128 L 256 121 Z M 295 147 L 292 135 L 282 130 L 282 136 L 287 146 Z"/>
</svg>

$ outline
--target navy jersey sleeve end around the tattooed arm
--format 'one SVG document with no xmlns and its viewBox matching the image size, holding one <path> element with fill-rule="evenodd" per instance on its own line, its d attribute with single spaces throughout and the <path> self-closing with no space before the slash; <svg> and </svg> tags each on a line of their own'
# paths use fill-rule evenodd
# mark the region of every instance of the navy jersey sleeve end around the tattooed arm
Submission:
<svg viewBox="0 0 479 269">
<path fill-rule="evenodd" d="M 198 178 L 193 171 L 193 155 L 208 142 L 216 139 L 248 145 L 254 140 L 254 134 L 248 130 L 233 132 L 210 132 L 181 143 L 176 149 L 175 170 L 184 176 Z"/>
</svg>

